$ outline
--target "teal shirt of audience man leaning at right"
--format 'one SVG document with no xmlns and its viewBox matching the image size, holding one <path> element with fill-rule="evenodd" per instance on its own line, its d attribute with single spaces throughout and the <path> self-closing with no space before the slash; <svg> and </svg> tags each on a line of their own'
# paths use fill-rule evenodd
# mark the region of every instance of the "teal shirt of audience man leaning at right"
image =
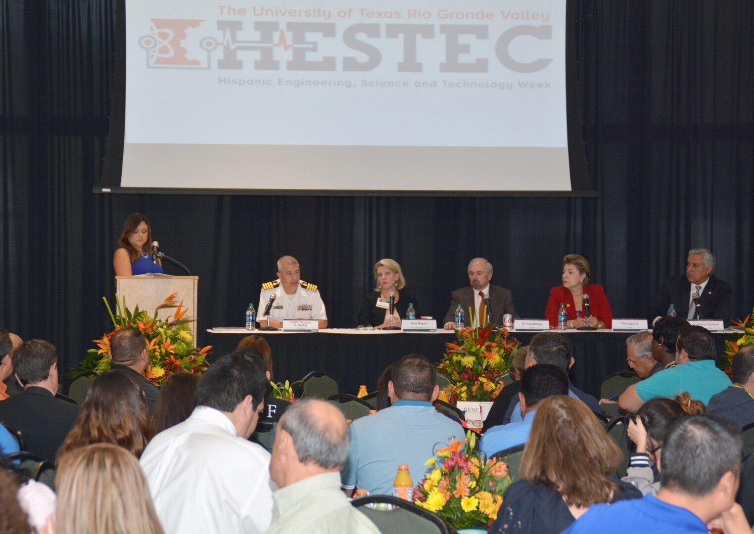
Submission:
<svg viewBox="0 0 754 534">
<path fill-rule="evenodd" d="M 728 375 L 717 368 L 714 360 L 686 362 L 665 369 L 636 383 L 636 394 L 642 401 L 654 397 L 675 397 L 688 392 L 691 398 L 705 405 L 713 395 L 731 385 Z"/>
</svg>

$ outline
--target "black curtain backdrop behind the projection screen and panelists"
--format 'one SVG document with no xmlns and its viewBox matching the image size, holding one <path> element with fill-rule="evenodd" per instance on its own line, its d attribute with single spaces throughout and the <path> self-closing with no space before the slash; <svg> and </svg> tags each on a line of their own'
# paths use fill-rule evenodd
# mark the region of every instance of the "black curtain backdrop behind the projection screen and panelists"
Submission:
<svg viewBox="0 0 754 534">
<path fill-rule="evenodd" d="M 0 11 L 0 325 L 51 340 L 61 367 L 109 331 L 101 297 L 112 302 L 112 253 L 131 212 L 146 214 L 161 249 L 201 277 L 199 310 L 189 311 L 201 331 L 242 325 L 284 254 L 320 286 L 333 327 L 356 324 L 372 264 L 385 257 L 402 264 L 421 313 L 439 319 L 477 255 L 522 316 L 544 315 L 569 252 L 590 260 L 615 316 L 644 316 L 696 246 L 716 254 L 735 315 L 754 306 L 751 0 L 576 2 L 599 198 L 95 195 L 115 4 L 5 0 Z"/>
</svg>

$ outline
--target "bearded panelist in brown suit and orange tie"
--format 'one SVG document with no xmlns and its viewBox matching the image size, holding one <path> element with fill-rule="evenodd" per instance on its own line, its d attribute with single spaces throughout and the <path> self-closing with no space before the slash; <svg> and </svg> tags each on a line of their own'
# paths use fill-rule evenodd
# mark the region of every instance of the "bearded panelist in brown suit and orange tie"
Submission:
<svg viewBox="0 0 754 534">
<path fill-rule="evenodd" d="M 503 316 L 510 313 L 514 318 L 518 317 L 516 308 L 513 307 L 513 294 L 506 288 L 499 285 L 491 285 L 492 264 L 484 258 L 474 258 L 469 262 L 469 287 L 458 289 L 450 294 L 450 307 L 445 314 L 444 327 L 446 330 L 452 330 L 455 325 L 455 309 L 461 304 L 464 310 L 466 325 L 471 325 L 468 316 L 469 308 L 474 310 L 474 316 L 482 310 L 486 310 L 484 300 L 489 296 L 490 308 L 492 310 L 492 325 L 502 325 Z M 478 326 L 474 324 L 473 326 Z"/>
</svg>

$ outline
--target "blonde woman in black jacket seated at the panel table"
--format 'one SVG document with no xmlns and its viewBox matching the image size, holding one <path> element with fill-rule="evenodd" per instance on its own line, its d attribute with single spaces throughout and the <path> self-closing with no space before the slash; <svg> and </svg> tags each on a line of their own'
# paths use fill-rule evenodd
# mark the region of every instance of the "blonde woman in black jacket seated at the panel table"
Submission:
<svg viewBox="0 0 754 534">
<path fill-rule="evenodd" d="M 416 317 L 418 314 L 418 302 L 416 295 L 406 289 L 406 279 L 403 278 L 403 270 L 397 261 L 385 258 L 375 264 L 375 281 L 377 287 L 364 297 L 361 311 L 359 312 L 359 325 L 375 328 L 385 328 L 391 325 L 390 321 L 390 294 L 395 295 L 395 308 L 393 312 L 393 326 L 400 327 L 400 319 L 406 316 L 409 304 L 414 305 Z"/>
</svg>

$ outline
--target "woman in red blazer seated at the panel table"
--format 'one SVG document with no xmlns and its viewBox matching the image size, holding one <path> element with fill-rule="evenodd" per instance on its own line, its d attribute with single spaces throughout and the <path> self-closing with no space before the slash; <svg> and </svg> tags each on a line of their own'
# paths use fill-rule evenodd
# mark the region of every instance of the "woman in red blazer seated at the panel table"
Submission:
<svg viewBox="0 0 754 534">
<path fill-rule="evenodd" d="M 589 325 L 593 328 L 612 328 L 612 311 L 602 285 L 590 284 L 592 271 L 589 262 L 578 254 L 569 254 L 563 258 L 562 285 L 550 289 L 550 300 L 544 316 L 550 320 L 550 326 L 558 325 L 560 303 L 566 304 L 568 328 L 581 328 L 585 325 L 582 312 L 584 294 L 589 295 Z M 581 312 L 577 319 L 576 313 Z"/>
</svg>

